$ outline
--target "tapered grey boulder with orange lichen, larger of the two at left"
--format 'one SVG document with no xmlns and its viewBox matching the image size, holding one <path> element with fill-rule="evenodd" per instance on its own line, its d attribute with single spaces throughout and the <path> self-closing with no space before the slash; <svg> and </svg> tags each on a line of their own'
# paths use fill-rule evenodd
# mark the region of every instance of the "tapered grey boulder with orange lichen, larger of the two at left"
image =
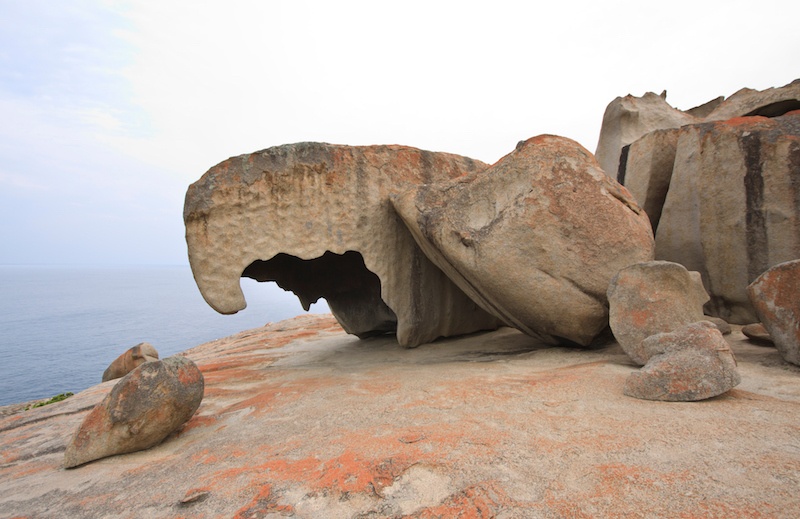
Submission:
<svg viewBox="0 0 800 519">
<path fill-rule="evenodd" d="M 64 467 L 158 445 L 197 411 L 203 388 L 202 373 L 185 357 L 140 365 L 86 416 L 67 445 Z"/>
</svg>

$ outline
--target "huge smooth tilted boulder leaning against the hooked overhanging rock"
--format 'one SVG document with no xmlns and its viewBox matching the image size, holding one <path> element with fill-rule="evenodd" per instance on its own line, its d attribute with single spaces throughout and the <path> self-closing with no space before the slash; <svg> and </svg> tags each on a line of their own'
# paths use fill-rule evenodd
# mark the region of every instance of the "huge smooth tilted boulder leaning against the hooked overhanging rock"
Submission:
<svg viewBox="0 0 800 519">
<path fill-rule="evenodd" d="M 392 199 L 431 260 L 487 312 L 550 343 L 608 325 L 612 276 L 653 255 L 650 222 L 578 143 L 521 142 L 488 170 Z"/>
</svg>

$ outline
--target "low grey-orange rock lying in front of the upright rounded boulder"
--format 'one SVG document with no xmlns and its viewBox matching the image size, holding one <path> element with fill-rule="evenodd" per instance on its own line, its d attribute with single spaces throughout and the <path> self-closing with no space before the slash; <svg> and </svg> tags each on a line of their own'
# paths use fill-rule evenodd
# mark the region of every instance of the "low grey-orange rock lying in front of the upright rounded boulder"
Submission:
<svg viewBox="0 0 800 519">
<path fill-rule="evenodd" d="M 736 359 L 713 323 L 701 321 L 648 337 L 650 360 L 625 381 L 626 395 L 643 400 L 691 402 L 736 387 Z"/>
</svg>

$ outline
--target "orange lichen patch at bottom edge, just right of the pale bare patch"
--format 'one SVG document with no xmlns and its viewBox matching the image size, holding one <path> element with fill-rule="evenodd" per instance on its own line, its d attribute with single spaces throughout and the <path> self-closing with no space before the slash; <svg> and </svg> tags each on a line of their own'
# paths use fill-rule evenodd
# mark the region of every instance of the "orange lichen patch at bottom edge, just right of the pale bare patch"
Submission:
<svg viewBox="0 0 800 519">
<path fill-rule="evenodd" d="M 499 486 L 492 483 L 484 483 L 467 487 L 461 492 L 448 497 L 440 505 L 425 508 L 403 517 L 408 519 L 434 519 L 439 517 L 488 519 L 497 517 L 498 513 L 502 512 L 503 509 L 509 509 L 514 504 Z"/>
</svg>

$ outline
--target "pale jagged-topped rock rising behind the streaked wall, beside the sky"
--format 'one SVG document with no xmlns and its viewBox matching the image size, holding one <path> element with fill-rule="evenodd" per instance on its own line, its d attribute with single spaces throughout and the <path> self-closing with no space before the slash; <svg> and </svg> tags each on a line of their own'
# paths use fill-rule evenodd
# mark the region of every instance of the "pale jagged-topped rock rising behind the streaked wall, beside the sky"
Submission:
<svg viewBox="0 0 800 519">
<path fill-rule="evenodd" d="M 647 92 L 642 97 L 617 97 L 606 107 L 595 156 L 611 178 L 619 180 L 620 154 L 625 147 L 653 130 L 679 128 L 700 121 L 691 113 L 673 108 L 666 93 Z M 624 158 L 624 157 L 623 157 Z M 625 160 L 622 160 L 623 167 Z M 627 176 L 627 173 L 626 173 Z"/>
</svg>

